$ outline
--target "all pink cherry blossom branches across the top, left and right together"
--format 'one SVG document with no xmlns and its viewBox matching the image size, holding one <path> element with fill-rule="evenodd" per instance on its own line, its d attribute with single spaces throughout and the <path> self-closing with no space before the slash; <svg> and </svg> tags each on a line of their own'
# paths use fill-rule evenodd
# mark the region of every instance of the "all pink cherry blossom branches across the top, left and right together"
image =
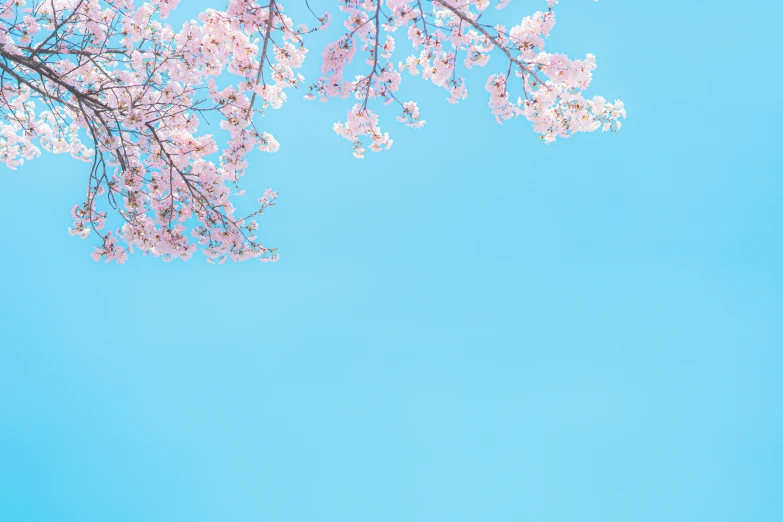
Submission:
<svg viewBox="0 0 783 522">
<path fill-rule="evenodd" d="M 622 102 L 583 95 L 595 57 L 544 51 L 557 1 L 510 28 L 484 21 L 490 6 L 509 1 L 337 0 L 344 32 L 308 83 L 297 72 L 306 41 L 330 22 L 309 4 L 313 29 L 291 20 L 280 0 L 228 0 L 224 11 L 208 9 L 177 31 L 165 19 L 179 0 L 3 0 L 0 158 L 14 169 L 43 149 L 90 165 L 69 232 L 99 237 L 95 260 L 123 263 L 134 250 L 188 259 L 200 247 L 209 261 L 276 261 L 256 234 L 277 193 L 267 189 L 248 215 L 237 215 L 232 197 L 244 194 L 247 154 L 278 150 L 257 116 L 281 108 L 292 88 L 308 99 L 354 98 L 334 131 L 357 158 L 392 146 L 376 103 L 398 106 L 409 127 L 424 125 L 417 103 L 401 98 L 404 74 L 457 103 L 468 92 L 460 68 L 484 67 L 493 54 L 501 69 L 485 89 L 499 123 L 524 116 L 547 143 L 620 128 Z M 413 53 L 395 62 L 392 33 L 400 29 Z M 357 52 L 366 69 L 346 79 Z M 201 131 L 211 119 L 223 141 Z"/>
</svg>

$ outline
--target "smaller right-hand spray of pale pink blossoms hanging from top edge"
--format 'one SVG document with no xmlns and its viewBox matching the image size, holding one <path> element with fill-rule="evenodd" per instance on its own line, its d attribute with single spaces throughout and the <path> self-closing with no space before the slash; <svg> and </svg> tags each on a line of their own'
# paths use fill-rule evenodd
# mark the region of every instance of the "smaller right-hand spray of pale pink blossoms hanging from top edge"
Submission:
<svg viewBox="0 0 783 522">
<path fill-rule="evenodd" d="M 419 107 L 400 99 L 402 74 L 421 76 L 445 89 L 449 103 L 467 94 L 459 67 L 485 67 L 493 54 L 501 55 L 503 68 L 489 75 L 485 89 L 489 107 L 498 123 L 524 116 L 547 143 L 577 132 L 617 131 L 625 108 L 621 101 L 607 103 L 600 97 L 585 98 L 592 81 L 595 57 L 581 60 L 544 51 L 545 39 L 555 25 L 553 7 L 524 17 L 507 27 L 484 21 L 486 10 L 508 6 L 510 0 L 344 0 L 345 32 L 323 51 L 321 77 L 310 86 L 307 97 L 354 97 L 355 104 L 345 122 L 334 130 L 353 144 L 354 156 L 361 158 L 367 147 L 380 151 L 391 146 L 388 134 L 381 133 L 378 117 L 370 101 L 396 104 L 398 120 L 421 127 Z M 425 5 L 428 8 L 425 9 Z M 396 47 L 391 33 L 404 32 L 414 53 L 395 63 Z M 368 70 L 347 78 L 348 66 L 359 53 Z M 512 94 L 512 92 L 516 92 Z"/>
</svg>

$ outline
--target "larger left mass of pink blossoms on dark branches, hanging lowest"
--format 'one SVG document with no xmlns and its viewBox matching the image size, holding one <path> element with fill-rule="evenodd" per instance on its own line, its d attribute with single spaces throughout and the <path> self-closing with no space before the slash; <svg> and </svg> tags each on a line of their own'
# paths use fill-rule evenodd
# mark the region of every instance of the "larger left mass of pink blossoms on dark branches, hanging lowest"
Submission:
<svg viewBox="0 0 783 522">
<path fill-rule="evenodd" d="M 276 0 L 228 0 L 175 31 L 164 20 L 178 2 L 3 2 L 0 160 L 13 169 L 43 149 L 92 165 L 69 232 L 97 234 L 96 259 L 122 263 L 134 249 L 188 259 L 201 247 L 212 261 L 275 261 L 254 218 L 277 194 L 243 216 L 231 196 L 241 194 L 247 154 L 279 148 L 254 116 L 304 81 L 296 70 L 308 31 Z M 225 146 L 200 131 L 210 113 Z M 101 205 L 121 225 L 106 230 Z"/>
</svg>

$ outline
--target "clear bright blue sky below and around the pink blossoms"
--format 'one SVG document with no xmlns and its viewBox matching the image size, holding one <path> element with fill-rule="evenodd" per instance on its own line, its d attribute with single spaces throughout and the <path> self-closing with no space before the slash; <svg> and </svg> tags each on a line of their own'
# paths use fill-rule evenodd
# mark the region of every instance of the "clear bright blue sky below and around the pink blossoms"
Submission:
<svg viewBox="0 0 783 522">
<path fill-rule="evenodd" d="M 411 79 L 429 125 L 357 161 L 292 96 L 276 265 L 96 264 L 84 165 L 3 169 L 0 520 L 783 520 L 783 7 L 558 13 L 619 135 Z"/>
</svg>

